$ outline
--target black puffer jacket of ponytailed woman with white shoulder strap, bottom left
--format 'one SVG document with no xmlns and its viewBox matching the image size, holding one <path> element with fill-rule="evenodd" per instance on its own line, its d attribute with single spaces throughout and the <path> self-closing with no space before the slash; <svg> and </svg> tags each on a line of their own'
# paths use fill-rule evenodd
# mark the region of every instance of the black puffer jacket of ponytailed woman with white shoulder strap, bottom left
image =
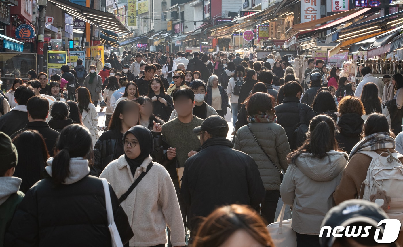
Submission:
<svg viewBox="0 0 403 247">
<path fill-rule="evenodd" d="M 125 244 L 133 232 L 109 185 L 114 221 Z M 25 194 L 8 228 L 4 246 L 110 247 L 102 181 L 86 176 L 73 184 L 37 182 Z"/>
</svg>

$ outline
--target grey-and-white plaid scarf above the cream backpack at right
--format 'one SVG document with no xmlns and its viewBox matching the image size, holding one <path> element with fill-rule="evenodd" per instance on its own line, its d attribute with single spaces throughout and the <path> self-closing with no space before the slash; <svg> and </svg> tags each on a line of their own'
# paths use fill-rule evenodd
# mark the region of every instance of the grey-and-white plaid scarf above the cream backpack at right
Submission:
<svg viewBox="0 0 403 247">
<path fill-rule="evenodd" d="M 378 149 L 395 149 L 395 139 L 388 132 L 379 132 L 361 139 L 350 152 L 349 159 L 359 151 L 373 151 Z"/>
</svg>

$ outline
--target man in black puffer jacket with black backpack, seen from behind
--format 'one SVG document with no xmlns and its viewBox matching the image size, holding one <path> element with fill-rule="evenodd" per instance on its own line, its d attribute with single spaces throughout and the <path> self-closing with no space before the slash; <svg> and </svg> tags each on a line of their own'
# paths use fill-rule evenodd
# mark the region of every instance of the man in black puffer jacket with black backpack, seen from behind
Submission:
<svg viewBox="0 0 403 247">
<path fill-rule="evenodd" d="M 283 103 L 274 107 L 274 110 L 276 111 L 277 123 L 283 126 L 287 134 L 290 149 L 293 151 L 297 148 L 297 144 L 293 140 L 293 134 L 297 128 L 296 125 L 300 123 L 298 104 L 302 94 L 302 87 L 298 82 L 287 82 L 283 86 L 283 92 L 285 96 Z M 305 124 L 309 125 L 309 122 L 316 116 L 316 113 L 309 105 L 302 104 L 302 106 L 305 112 Z"/>
</svg>

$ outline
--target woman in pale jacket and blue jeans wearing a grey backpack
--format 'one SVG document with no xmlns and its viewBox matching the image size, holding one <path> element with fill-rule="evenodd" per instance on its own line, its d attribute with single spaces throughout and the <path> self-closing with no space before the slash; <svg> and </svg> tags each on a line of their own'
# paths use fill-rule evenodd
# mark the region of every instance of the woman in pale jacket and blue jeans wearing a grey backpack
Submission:
<svg viewBox="0 0 403 247">
<path fill-rule="evenodd" d="M 229 63 L 234 64 L 234 62 L 232 62 L 232 61 Z M 229 66 L 232 66 L 232 65 L 228 65 L 228 67 Z M 238 82 L 239 84 L 241 84 L 241 82 L 243 81 L 243 78 L 245 76 L 246 76 L 245 67 L 243 67 L 242 65 L 238 65 L 237 68 L 235 69 L 235 72 L 229 79 L 228 88 L 226 90 L 228 98 L 231 97 L 231 110 L 232 110 L 233 126 L 235 126 L 235 123 L 238 121 L 237 116 L 238 116 L 238 112 L 239 112 L 238 111 L 239 94 L 238 95 L 234 94 L 235 82 Z M 232 133 L 235 134 L 235 128 Z"/>
</svg>

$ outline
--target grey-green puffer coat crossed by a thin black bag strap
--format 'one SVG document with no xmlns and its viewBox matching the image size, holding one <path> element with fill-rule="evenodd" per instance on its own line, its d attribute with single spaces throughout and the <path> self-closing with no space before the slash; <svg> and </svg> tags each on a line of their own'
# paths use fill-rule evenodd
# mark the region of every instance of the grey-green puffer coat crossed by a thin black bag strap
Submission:
<svg viewBox="0 0 403 247">
<path fill-rule="evenodd" d="M 278 169 L 286 172 L 288 167 L 287 155 L 291 150 L 284 128 L 273 122 L 252 122 L 249 123 L 249 127 Z M 266 190 L 278 190 L 280 188 L 280 173 L 260 149 L 248 126 L 242 126 L 237 131 L 234 149 L 242 151 L 253 158 L 259 167 L 260 177 Z"/>
</svg>

